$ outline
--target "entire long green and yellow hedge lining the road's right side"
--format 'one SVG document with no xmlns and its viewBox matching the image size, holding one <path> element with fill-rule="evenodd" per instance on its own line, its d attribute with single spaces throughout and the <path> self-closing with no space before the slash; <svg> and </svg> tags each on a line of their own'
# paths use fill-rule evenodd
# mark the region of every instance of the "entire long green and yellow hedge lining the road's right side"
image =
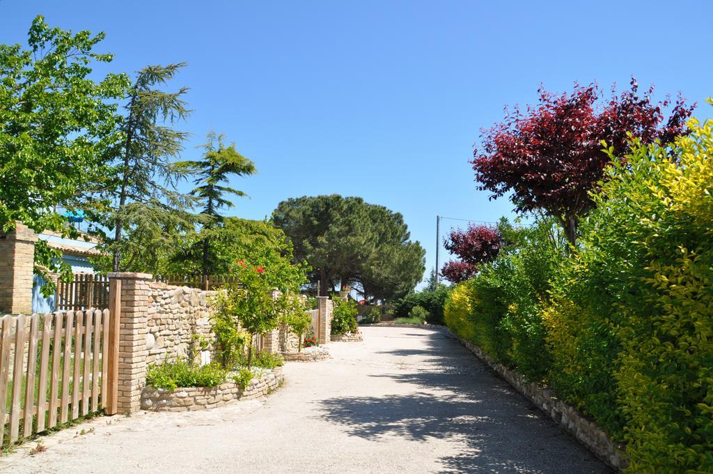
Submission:
<svg viewBox="0 0 713 474">
<path fill-rule="evenodd" d="M 712 128 L 615 160 L 573 256 L 531 233 L 446 301 L 453 331 L 625 442 L 630 472 L 713 472 Z"/>
</svg>

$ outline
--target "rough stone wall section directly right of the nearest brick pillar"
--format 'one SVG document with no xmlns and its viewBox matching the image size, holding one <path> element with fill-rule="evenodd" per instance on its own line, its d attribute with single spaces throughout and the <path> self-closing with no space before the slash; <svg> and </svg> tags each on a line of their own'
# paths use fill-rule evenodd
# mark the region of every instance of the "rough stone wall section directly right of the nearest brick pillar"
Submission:
<svg viewBox="0 0 713 474">
<path fill-rule="evenodd" d="M 215 291 L 205 291 L 188 286 L 168 286 L 150 283 L 148 293 L 147 363 L 176 360 L 192 356 L 198 350 L 193 336 L 203 336 L 209 343 L 201 354 L 202 363 L 210 360 L 215 335 L 210 331 L 210 296 Z"/>
</svg>

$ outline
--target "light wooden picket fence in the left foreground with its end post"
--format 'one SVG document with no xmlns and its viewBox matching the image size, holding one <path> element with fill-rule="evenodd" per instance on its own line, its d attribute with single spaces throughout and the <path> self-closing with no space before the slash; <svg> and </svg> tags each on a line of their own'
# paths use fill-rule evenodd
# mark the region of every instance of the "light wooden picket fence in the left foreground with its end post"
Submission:
<svg viewBox="0 0 713 474">
<path fill-rule="evenodd" d="M 116 413 L 118 321 L 108 309 L 1 318 L 0 445 Z"/>
</svg>

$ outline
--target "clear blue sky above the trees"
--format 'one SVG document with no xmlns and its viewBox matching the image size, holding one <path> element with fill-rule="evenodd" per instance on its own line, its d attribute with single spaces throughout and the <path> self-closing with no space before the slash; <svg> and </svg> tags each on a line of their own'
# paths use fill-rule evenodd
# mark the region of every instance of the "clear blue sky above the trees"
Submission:
<svg viewBox="0 0 713 474">
<path fill-rule="evenodd" d="M 255 161 L 230 213 L 264 218 L 293 196 L 363 196 L 404 214 L 434 266 L 436 214 L 512 216 L 476 191 L 481 127 L 544 84 L 681 91 L 712 116 L 713 3 L 670 1 L 0 0 L 0 43 L 26 44 L 36 14 L 105 31 L 112 71 L 187 61 L 173 84 L 194 109 L 185 158 L 211 128 Z M 188 186 L 186 186 L 188 188 Z M 444 231 L 456 221 L 445 221 Z"/>
</svg>

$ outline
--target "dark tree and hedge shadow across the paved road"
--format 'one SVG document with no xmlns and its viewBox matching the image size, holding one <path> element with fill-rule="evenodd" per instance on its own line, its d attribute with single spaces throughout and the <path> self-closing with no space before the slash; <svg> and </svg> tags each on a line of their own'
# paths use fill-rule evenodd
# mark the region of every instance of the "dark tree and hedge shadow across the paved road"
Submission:
<svg viewBox="0 0 713 474">
<path fill-rule="evenodd" d="M 426 350 L 376 353 L 409 363 L 371 375 L 414 385 L 409 395 L 329 398 L 319 402 L 324 417 L 369 440 L 453 441 L 460 452 L 441 458 L 444 473 L 612 472 L 459 343 L 426 331 L 413 337 Z"/>
</svg>

